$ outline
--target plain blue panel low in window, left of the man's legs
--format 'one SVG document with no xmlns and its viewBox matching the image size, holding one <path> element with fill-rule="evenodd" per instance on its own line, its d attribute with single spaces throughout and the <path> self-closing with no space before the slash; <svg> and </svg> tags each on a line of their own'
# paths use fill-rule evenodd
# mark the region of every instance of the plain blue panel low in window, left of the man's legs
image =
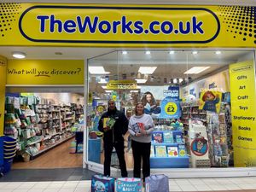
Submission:
<svg viewBox="0 0 256 192">
<path fill-rule="evenodd" d="M 101 163 L 101 145 L 102 138 L 89 139 L 88 144 L 88 160 Z"/>
</svg>

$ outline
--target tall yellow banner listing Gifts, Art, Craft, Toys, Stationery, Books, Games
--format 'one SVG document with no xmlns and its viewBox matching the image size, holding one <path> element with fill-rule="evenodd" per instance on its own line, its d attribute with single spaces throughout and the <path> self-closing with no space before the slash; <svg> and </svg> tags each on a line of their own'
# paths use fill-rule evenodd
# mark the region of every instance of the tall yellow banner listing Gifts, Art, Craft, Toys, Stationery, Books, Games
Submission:
<svg viewBox="0 0 256 192">
<path fill-rule="evenodd" d="M 235 166 L 256 166 L 256 94 L 253 61 L 230 65 Z"/>
</svg>

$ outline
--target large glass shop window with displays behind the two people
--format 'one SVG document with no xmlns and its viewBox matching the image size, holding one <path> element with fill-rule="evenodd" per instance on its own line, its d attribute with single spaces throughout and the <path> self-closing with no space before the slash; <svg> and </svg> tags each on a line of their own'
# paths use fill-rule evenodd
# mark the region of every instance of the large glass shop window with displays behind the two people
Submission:
<svg viewBox="0 0 256 192">
<path fill-rule="evenodd" d="M 254 63 L 251 50 L 216 49 L 120 50 L 90 59 L 88 160 L 103 164 L 97 125 L 113 99 L 127 118 L 137 102 L 152 115 L 151 168 L 256 166 Z M 132 169 L 130 142 L 127 133 Z M 114 151 L 112 157 L 118 167 Z"/>
</svg>

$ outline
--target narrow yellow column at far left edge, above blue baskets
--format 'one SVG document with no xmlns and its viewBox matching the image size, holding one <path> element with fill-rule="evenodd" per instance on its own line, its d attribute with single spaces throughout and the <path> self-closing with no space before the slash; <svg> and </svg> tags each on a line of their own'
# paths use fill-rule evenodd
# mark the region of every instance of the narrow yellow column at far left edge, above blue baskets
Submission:
<svg viewBox="0 0 256 192">
<path fill-rule="evenodd" d="M 6 66 L 7 66 L 7 60 L 0 55 L 0 136 L 3 136 L 3 128 L 4 128 Z"/>
</svg>

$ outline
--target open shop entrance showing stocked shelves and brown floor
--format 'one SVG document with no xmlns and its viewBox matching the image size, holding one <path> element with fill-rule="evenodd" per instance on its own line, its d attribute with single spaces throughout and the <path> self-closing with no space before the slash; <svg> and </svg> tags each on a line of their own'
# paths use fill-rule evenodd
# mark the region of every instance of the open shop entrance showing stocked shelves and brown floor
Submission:
<svg viewBox="0 0 256 192">
<path fill-rule="evenodd" d="M 12 169 L 83 167 L 83 87 L 8 87 L 6 93 L 4 134 L 17 139 Z"/>
</svg>

